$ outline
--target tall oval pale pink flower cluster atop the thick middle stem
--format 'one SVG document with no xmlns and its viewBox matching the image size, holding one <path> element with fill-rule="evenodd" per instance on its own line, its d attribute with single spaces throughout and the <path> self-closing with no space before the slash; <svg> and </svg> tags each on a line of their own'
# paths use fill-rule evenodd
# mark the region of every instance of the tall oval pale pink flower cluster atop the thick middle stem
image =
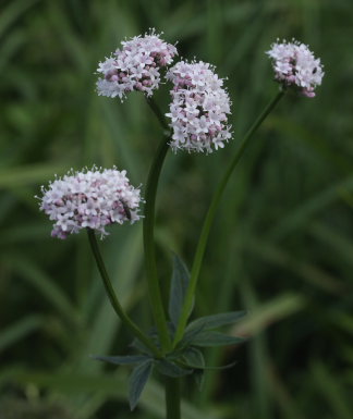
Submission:
<svg viewBox="0 0 353 419">
<path fill-rule="evenodd" d="M 181 61 L 171 67 L 167 78 L 174 84 L 170 112 L 173 130 L 172 149 L 212 152 L 231 138 L 227 124 L 230 99 L 215 67 L 205 62 Z"/>
</svg>

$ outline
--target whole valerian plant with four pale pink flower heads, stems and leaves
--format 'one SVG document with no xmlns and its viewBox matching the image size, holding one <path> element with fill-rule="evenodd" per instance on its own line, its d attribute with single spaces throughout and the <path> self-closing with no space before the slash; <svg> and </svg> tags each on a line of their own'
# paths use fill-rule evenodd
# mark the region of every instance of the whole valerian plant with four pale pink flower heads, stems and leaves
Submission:
<svg viewBox="0 0 353 419">
<path fill-rule="evenodd" d="M 224 79 L 216 74 L 211 64 L 182 60 L 172 65 L 178 56 L 176 48 L 163 41 L 155 30 L 123 41 L 120 49 L 99 63 L 98 95 L 123 101 L 129 93 L 141 91 L 161 124 L 161 141 L 151 162 L 145 201 L 141 189 L 130 184 L 126 171 L 117 168 L 71 170 L 62 178 L 57 177 L 48 188 L 41 188 L 40 209 L 53 221 L 52 236 L 64 239 L 86 230 L 111 305 L 133 335 L 132 354 L 95 357 L 132 367 L 129 380 L 131 409 L 137 405 L 145 384 L 156 370 L 167 378 L 166 417 L 180 419 L 181 378 L 194 375 L 200 384 L 205 370 L 233 366 L 206 366 L 202 348 L 239 345 L 245 341 L 243 336 L 217 331 L 242 319 L 244 311 L 216 313 L 190 321 L 209 231 L 228 181 L 256 130 L 287 91 L 312 98 L 324 76 L 320 61 L 305 45 L 295 40 L 277 41 L 267 54 L 272 60 L 280 89 L 230 158 L 206 213 L 191 272 L 174 255 L 168 305 L 162 301 L 154 238 L 155 201 L 165 157 L 170 148 L 174 152 L 186 150 L 208 155 L 223 148 L 232 138 L 228 123 L 231 101 Z M 162 82 L 163 85 L 171 83 L 168 112 L 160 111 L 151 98 Z M 143 211 L 139 209 L 142 204 L 145 204 Z M 97 242 L 97 234 L 100 238 L 106 237 L 111 224 L 134 223 L 141 219 L 144 223 L 146 279 L 155 320 L 155 328 L 147 332 L 142 331 L 121 306 Z M 167 312 L 165 306 L 168 306 Z"/>
</svg>

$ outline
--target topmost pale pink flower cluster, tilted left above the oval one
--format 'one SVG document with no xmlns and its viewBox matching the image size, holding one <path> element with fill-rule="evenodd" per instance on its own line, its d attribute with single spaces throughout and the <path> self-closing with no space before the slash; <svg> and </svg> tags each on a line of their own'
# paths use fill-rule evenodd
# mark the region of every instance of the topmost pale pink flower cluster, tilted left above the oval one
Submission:
<svg viewBox="0 0 353 419">
<path fill-rule="evenodd" d="M 121 44 L 121 49 L 99 63 L 97 71 L 102 78 L 97 82 L 98 95 L 123 100 L 126 93 L 139 90 L 151 96 L 160 83 L 160 69 L 172 63 L 176 48 L 161 40 L 154 29 Z"/>
</svg>

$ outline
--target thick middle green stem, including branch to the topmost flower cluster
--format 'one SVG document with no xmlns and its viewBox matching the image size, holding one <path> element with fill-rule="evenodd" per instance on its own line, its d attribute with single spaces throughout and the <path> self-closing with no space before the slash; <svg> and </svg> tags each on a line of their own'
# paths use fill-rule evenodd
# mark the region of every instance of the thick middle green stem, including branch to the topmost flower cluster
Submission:
<svg viewBox="0 0 353 419">
<path fill-rule="evenodd" d="M 151 99 L 147 99 L 151 110 L 157 115 L 163 128 L 168 128 L 168 124 L 165 121 L 163 115 L 159 111 L 158 107 Z M 168 331 L 167 318 L 165 307 L 161 297 L 161 291 L 157 273 L 156 263 L 156 249 L 155 249 L 155 207 L 156 207 L 156 194 L 160 171 L 169 149 L 169 138 L 163 137 L 156 151 L 154 161 L 151 163 L 148 180 L 146 185 L 146 205 L 145 205 L 145 218 L 144 218 L 144 249 L 145 249 L 145 267 L 146 278 L 149 288 L 149 297 L 151 301 L 151 308 L 154 319 L 157 325 L 162 353 L 171 349 L 171 338 Z"/>
</svg>

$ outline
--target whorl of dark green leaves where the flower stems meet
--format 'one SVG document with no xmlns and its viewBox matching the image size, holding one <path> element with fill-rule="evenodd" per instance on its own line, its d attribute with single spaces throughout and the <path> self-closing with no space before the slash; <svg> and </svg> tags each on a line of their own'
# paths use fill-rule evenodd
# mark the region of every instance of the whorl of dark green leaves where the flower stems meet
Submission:
<svg viewBox="0 0 353 419">
<path fill-rule="evenodd" d="M 185 289 L 188 284 L 188 272 L 181 259 L 174 256 L 174 267 L 171 281 L 171 293 L 169 301 L 170 337 L 173 338 L 178 326 L 179 317 L 184 303 Z M 193 375 L 200 386 L 203 373 L 207 369 L 224 369 L 234 365 L 232 362 L 224 367 L 206 367 L 200 347 L 227 346 L 243 343 L 246 338 L 230 336 L 215 331 L 217 328 L 232 324 L 245 316 L 245 311 L 230 311 L 212 316 L 202 317 L 188 323 L 183 338 L 175 345 L 174 349 L 162 358 L 156 358 L 154 354 L 138 340 L 134 340 L 132 347 L 138 350 L 137 355 L 126 356 L 96 356 L 95 359 L 114 365 L 135 366 L 129 381 L 129 400 L 131 409 L 134 409 L 145 384 L 153 370 L 162 375 L 180 378 Z M 157 347 L 160 347 L 158 334 L 155 330 L 149 333 Z"/>
</svg>

